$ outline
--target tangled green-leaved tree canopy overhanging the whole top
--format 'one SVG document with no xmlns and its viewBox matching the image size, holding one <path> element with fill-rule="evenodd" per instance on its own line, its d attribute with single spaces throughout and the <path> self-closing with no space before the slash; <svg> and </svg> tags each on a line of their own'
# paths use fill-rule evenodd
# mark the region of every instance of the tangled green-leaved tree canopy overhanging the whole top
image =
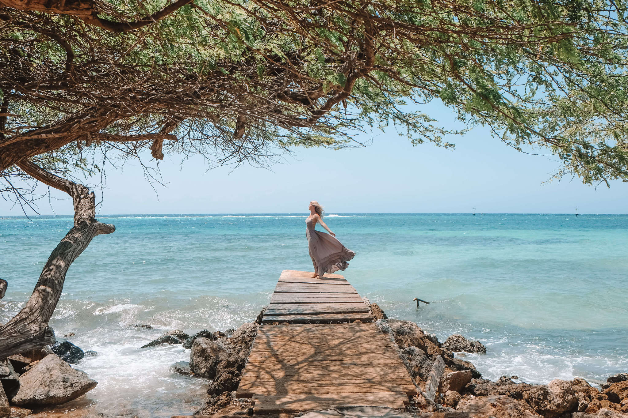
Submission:
<svg viewBox="0 0 628 418">
<path fill-rule="evenodd" d="M 403 107 L 431 100 L 549 150 L 557 176 L 628 179 L 627 22 L 609 0 L 0 2 L 0 190 L 18 201 L 14 177 L 57 187 L 112 152 L 264 162 L 387 125 L 453 146 Z"/>
</svg>

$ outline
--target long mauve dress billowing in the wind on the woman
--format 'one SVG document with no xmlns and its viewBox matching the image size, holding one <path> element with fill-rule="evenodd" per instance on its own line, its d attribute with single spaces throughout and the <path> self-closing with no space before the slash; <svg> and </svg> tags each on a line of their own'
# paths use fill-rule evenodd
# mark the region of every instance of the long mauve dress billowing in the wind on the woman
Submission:
<svg viewBox="0 0 628 418">
<path fill-rule="evenodd" d="M 308 248 L 310 248 L 310 258 L 314 264 L 314 271 L 322 277 L 325 273 L 334 271 L 344 271 L 349 267 L 350 259 L 355 253 L 345 248 L 340 241 L 330 234 L 325 234 L 314 229 L 315 223 L 310 217 L 305 220 L 307 229 L 305 236 L 308 238 Z"/>
</svg>

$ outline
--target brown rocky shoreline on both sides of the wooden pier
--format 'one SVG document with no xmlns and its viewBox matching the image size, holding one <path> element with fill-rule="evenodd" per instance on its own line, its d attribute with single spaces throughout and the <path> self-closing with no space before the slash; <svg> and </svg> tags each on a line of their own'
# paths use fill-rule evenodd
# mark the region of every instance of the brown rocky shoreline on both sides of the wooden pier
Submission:
<svg viewBox="0 0 628 418">
<path fill-rule="evenodd" d="M 387 318 L 376 303 L 365 302 L 377 320 L 376 326 L 388 333 L 393 346 L 396 345 L 394 348 L 398 349 L 399 357 L 419 392 L 425 392 L 433 365 L 436 361 L 440 362 L 438 357 L 445 365 L 434 400 L 427 400 L 419 394 L 411 399 L 403 414 L 395 412 L 397 415 L 394 416 L 427 418 L 429 414 L 445 412 L 451 417 L 463 413 L 464 416 L 474 414 L 496 418 L 628 418 L 628 374 L 609 377 L 601 390 L 581 378 L 556 379 L 548 384 L 533 385 L 514 382 L 513 379 L 519 380 L 516 376 L 502 376 L 493 382 L 483 379 L 473 363 L 460 358 L 464 352 L 486 353 L 486 347 L 479 341 L 454 334 L 441 343 L 435 335 L 423 332 L 416 323 Z M 138 348 L 180 344 L 191 349 L 190 361 L 175 363 L 170 370 L 208 379 L 207 398 L 195 415 L 251 415 L 251 399 L 236 399 L 235 391 L 262 315 L 263 311 L 256 321 L 244 323 L 237 330 L 201 330 L 193 335 L 172 330 Z M 135 326 L 151 328 L 149 325 Z M 23 354 L 31 359 L 29 364 L 9 359 L 0 362 L 0 418 L 25 417 L 33 409 L 51 409 L 81 397 L 97 385 L 87 374 L 70 366 L 85 355 L 95 355 L 95 352 L 83 352 L 72 343 L 63 341 Z M 337 410 L 335 413 L 338 417 L 347 414 L 352 417 L 389 414 L 382 409 L 368 411 L 354 410 L 349 413 Z M 314 414 L 312 418 L 318 416 Z"/>
</svg>

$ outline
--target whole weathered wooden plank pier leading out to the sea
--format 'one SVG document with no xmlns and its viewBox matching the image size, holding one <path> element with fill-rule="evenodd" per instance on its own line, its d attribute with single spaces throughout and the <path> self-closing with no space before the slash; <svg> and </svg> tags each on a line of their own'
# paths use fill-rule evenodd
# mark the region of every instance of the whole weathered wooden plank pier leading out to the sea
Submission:
<svg viewBox="0 0 628 418">
<path fill-rule="evenodd" d="M 339 274 L 281 273 L 236 396 L 253 414 L 346 405 L 404 409 L 413 381 L 359 293 Z"/>
</svg>

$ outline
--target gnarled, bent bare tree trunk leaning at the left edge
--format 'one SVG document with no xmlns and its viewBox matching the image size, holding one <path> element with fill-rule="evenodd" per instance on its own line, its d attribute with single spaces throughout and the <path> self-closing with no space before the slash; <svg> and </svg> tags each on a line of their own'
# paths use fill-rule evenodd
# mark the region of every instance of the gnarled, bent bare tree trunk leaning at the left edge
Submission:
<svg viewBox="0 0 628 418">
<path fill-rule="evenodd" d="M 0 358 L 41 348 L 55 342 L 48 321 L 55 311 L 70 264 L 97 235 L 111 234 L 116 227 L 97 221 L 95 195 L 85 185 L 62 179 L 41 169 L 29 160 L 18 166 L 37 180 L 67 192 L 74 201 L 74 226 L 57 245 L 43 270 L 33 295 L 18 315 L 0 326 Z"/>
</svg>

